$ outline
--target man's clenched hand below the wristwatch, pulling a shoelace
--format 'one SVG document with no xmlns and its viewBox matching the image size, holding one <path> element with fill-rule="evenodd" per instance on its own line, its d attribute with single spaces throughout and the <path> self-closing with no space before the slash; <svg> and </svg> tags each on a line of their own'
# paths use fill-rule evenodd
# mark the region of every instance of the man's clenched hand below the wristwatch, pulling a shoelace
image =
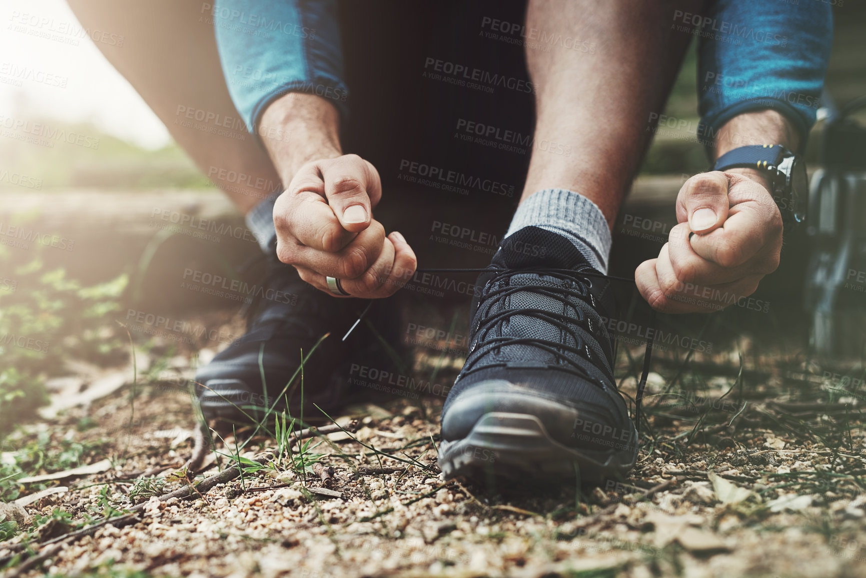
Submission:
<svg viewBox="0 0 866 578">
<path fill-rule="evenodd" d="M 635 271 L 637 289 L 665 313 L 725 308 L 779 267 L 782 217 L 753 170 L 703 172 L 682 185 L 669 243 Z"/>
</svg>

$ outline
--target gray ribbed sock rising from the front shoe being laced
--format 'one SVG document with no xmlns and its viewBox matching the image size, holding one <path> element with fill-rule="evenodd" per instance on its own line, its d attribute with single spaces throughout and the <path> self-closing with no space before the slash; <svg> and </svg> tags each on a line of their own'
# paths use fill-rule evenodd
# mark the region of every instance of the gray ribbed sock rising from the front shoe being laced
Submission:
<svg viewBox="0 0 866 578">
<path fill-rule="evenodd" d="M 571 241 L 593 268 L 607 273 L 611 230 L 601 209 L 590 199 L 567 189 L 545 189 L 517 207 L 508 235 L 536 226 Z"/>
</svg>

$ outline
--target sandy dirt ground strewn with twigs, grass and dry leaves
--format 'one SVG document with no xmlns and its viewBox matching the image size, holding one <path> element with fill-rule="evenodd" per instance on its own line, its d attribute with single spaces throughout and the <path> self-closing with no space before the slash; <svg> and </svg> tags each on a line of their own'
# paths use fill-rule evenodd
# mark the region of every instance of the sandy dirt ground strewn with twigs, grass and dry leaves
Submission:
<svg viewBox="0 0 866 578">
<path fill-rule="evenodd" d="M 243 445 L 250 429 L 223 431 L 194 476 L 182 469 L 197 423 L 185 384 L 212 354 L 139 354 L 134 388 L 12 436 L 4 460 L 74 446 L 94 471 L 18 482 L 19 502 L 63 490 L 24 506 L 27 531 L 0 543 L 6 575 L 866 575 L 859 399 L 797 355 L 747 340 L 656 352 L 637 467 L 581 490 L 443 481 L 442 399 L 396 396 L 333 416 L 346 431 L 332 424 L 302 452 L 292 436 Z M 461 365 L 459 352 L 429 347 L 415 358 L 440 381 Z M 620 347 L 627 396 L 642 362 L 642 347 Z M 111 376 L 74 368 L 65 386 L 77 393 Z M 239 460 L 242 475 L 213 485 Z M 30 473 L 50 473 L 48 462 Z M 189 480 L 205 489 L 165 498 Z"/>
</svg>

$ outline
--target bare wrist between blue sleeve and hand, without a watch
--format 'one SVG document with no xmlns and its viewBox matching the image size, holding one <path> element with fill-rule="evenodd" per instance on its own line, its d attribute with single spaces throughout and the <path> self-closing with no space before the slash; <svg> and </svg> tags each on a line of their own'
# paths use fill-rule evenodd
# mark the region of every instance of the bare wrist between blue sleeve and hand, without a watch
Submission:
<svg viewBox="0 0 866 578">
<path fill-rule="evenodd" d="M 342 154 L 337 108 L 313 94 L 281 96 L 265 109 L 259 129 L 284 186 L 307 162 Z M 270 139 L 269 132 L 281 138 Z"/>
</svg>

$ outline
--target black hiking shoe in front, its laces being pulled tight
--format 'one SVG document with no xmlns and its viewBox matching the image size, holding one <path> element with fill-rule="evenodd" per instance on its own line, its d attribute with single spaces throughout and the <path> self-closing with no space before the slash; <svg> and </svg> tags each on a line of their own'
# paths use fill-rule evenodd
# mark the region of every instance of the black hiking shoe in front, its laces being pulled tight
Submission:
<svg viewBox="0 0 866 578">
<path fill-rule="evenodd" d="M 553 232 L 502 241 L 478 277 L 469 357 L 443 407 L 446 477 L 600 484 L 634 466 L 637 431 L 603 321 L 614 316 L 608 285 Z"/>
</svg>

